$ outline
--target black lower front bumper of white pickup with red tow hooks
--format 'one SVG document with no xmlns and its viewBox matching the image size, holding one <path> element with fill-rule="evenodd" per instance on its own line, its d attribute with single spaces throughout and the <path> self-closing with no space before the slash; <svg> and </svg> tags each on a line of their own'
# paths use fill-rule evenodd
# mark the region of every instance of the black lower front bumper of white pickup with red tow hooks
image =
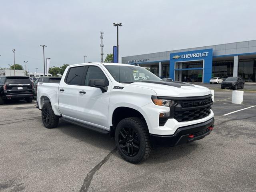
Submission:
<svg viewBox="0 0 256 192">
<path fill-rule="evenodd" d="M 173 135 L 150 134 L 154 146 L 171 147 L 199 140 L 209 135 L 214 127 L 214 118 L 202 123 L 180 127 Z"/>
</svg>

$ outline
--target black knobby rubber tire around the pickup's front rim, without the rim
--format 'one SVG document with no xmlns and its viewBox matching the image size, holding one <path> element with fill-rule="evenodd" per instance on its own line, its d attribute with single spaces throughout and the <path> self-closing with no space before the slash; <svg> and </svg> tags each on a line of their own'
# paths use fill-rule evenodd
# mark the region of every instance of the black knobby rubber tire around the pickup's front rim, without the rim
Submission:
<svg viewBox="0 0 256 192">
<path fill-rule="evenodd" d="M 139 150 L 137 151 L 137 154 L 135 156 L 128 156 L 121 149 L 121 146 L 119 144 L 119 136 L 120 131 L 123 130 L 123 128 L 132 128 L 137 135 L 136 138 L 139 141 Z M 120 153 L 122 158 L 134 164 L 146 160 L 150 156 L 150 153 L 152 152 L 152 145 L 150 143 L 148 126 L 146 125 L 144 119 L 138 117 L 125 118 L 118 123 L 115 130 L 115 142 L 118 152 Z"/>
</svg>

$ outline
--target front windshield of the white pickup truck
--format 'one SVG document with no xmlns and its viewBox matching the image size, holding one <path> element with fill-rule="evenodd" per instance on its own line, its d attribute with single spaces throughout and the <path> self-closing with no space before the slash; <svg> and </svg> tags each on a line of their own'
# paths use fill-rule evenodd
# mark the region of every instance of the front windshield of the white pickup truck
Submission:
<svg viewBox="0 0 256 192">
<path fill-rule="evenodd" d="M 112 77 L 120 83 L 132 83 L 143 81 L 161 81 L 161 79 L 142 67 L 137 66 L 120 66 L 120 76 L 118 65 L 105 66 Z M 120 81 L 119 81 L 120 78 Z"/>
</svg>

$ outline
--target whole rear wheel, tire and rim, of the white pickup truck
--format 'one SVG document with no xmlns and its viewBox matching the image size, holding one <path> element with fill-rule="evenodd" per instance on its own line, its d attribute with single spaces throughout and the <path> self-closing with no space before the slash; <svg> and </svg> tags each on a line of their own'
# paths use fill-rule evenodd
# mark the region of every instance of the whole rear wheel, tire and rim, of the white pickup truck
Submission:
<svg viewBox="0 0 256 192">
<path fill-rule="evenodd" d="M 51 103 L 45 103 L 42 107 L 42 121 L 46 128 L 55 128 L 58 126 L 59 117 L 54 114 Z"/>
</svg>

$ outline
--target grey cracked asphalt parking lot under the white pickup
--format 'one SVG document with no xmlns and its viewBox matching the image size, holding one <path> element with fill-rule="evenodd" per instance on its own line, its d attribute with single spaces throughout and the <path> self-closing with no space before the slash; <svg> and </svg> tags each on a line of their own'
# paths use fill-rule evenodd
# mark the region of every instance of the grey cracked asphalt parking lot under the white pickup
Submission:
<svg viewBox="0 0 256 192">
<path fill-rule="evenodd" d="M 245 92 L 242 105 L 231 97 L 215 91 L 209 136 L 156 148 L 141 164 L 124 161 L 108 135 L 61 120 L 44 128 L 35 102 L 1 105 L 0 191 L 255 192 L 256 93 Z"/>
</svg>

